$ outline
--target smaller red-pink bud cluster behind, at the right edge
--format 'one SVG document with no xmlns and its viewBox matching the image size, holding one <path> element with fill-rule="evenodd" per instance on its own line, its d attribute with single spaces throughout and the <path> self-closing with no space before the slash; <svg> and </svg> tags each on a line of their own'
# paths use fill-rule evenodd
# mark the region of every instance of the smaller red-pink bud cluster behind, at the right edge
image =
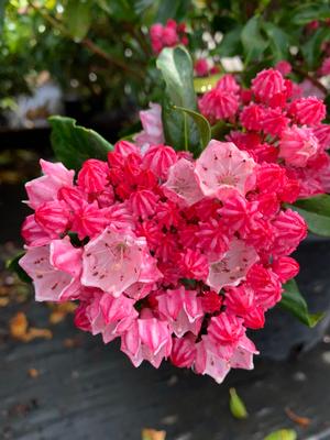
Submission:
<svg viewBox="0 0 330 440">
<path fill-rule="evenodd" d="M 226 122 L 227 140 L 249 152 L 258 164 L 279 164 L 298 185 L 299 197 L 330 191 L 330 125 L 322 123 L 326 106 L 285 78 L 288 63 L 266 69 L 243 89 L 231 75 L 199 100 L 213 124 Z"/>
</svg>

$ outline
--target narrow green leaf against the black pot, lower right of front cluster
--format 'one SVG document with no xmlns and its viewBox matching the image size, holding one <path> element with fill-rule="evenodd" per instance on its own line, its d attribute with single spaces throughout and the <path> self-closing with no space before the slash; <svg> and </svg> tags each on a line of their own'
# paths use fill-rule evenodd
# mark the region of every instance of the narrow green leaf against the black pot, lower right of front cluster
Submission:
<svg viewBox="0 0 330 440">
<path fill-rule="evenodd" d="M 299 292 L 299 287 L 295 279 L 290 279 L 284 286 L 284 293 L 282 294 L 282 300 L 279 306 L 289 311 L 300 322 L 312 328 L 315 327 L 324 316 L 324 314 L 309 314 L 308 306 L 304 297 Z"/>
</svg>

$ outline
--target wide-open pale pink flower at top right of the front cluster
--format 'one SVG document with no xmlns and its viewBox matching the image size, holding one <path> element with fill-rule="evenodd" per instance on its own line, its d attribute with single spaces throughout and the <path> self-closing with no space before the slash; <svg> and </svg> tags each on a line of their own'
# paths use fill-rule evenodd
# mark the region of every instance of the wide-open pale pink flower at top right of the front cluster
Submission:
<svg viewBox="0 0 330 440">
<path fill-rule="evenodd" d="M 195 174 L 205 196 L 243 196 L 253 186 L 255 162 L 231 142 L 211 141 L 196 161 Z"/>
</svg>

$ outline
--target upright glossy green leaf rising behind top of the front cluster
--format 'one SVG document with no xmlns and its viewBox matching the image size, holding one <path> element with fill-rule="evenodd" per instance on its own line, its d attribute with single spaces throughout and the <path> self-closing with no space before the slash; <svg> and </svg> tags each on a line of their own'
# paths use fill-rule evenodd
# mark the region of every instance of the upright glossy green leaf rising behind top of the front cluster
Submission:
<svg viewBox="0 0 330 440">
<path fill-rule="evenodd" d="M 183 46 L 166 47 L 160 54 L 157 68 L 166 84 L 162 119 L 166 142 L 177 150 L 185 145 L 185 133 L 188 133 L 189 151 L 198 154 L 200 136 L 196 123 L 185 116 L 173 111 L 172 106 L 197 111 L 197 98 L 193 80 L 193 61 Z"/>
</svg>

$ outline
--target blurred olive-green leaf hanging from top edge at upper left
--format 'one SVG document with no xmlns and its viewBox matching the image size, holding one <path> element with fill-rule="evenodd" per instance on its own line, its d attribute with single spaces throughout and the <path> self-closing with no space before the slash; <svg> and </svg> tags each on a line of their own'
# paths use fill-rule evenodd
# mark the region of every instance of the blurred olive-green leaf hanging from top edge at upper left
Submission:
<svg viewBox="0 0 330 440">
<path fill-rule="evenodd" d="M 75 41 L 85 38 L 91 23 L 91 1 L 68 0 L 63 19 Z"/>
</svg>

